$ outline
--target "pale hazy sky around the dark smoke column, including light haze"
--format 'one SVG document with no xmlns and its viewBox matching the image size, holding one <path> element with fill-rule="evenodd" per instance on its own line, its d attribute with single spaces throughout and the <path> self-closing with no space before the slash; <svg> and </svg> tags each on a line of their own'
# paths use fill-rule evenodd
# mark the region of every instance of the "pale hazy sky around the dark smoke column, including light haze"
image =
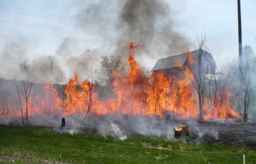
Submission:
<svg viewBox="0 0 256 164">
<path fill-rule="evenodd" d="M 200 36 L 202 32 L 205 32 L 206 46 L 217 62 L 231 61 L 238 57 L 237 1 L 166 0 L 163 2 L 169 11 L 163 14 L 168 16 L 164 16 L 164 21 L 161 21 L 162 19 L 157 21 L 161 16 L 154 18 L 156 19 L 154 37 L 150 38 L 150 46 L 145 46 L 150 52 L 139 51 L 135 56 L 141 66 L 152 68 L 157 58 L 167 57 L 179 51 L 192 51 L 197 45 L 196 36 Z M 6 75 L 10 73 L 9 70 L 15 72 L 14 70 L 20 69 L 16 67 L 16 62 L 19 63 L 22 57 L 31 62 L 26 64 L 26 68 L 29 66 L 35 69 L 38 64 L 33 66 L 33 61 L 45 60 L 41 56 L 51 56 L 50 59 L 47 58 L 50 61 L 56 59 L 57 65 L 53 68 L 60 69 L 60 72 L 65 72 L 68 77 L 77 69 L 81 69 L 81 73 L 84 70 L 88 72 L 92 63 L 99 62 L 101 54 L 117 52 L 115 50 L 119 49 L 117 43 L 122 40 L 122 33 L 125 35 L 125 32 L 131 29 L 127 24 L 116 21 L 120 19 L 124 3 L 117 0 L 0 0 L 0 55 L 4 56 L 1 59 L 1 74 Z M 256 51 L 256 1 L 241 0 L 241 12 L 243 46 L 249 44 Z M 173 50 L 175 48 L 163 51 L 166 48 L 162 47 L 165 41 L 161 42 L 162 38 L 156 37 L 155 34 L 163 29 L 161 27 L 166 23 L 170 24 L 169 32 L 177 32 L 183 37 L 185 42 L 175 45 L 179 44 L 179 47 L 183 47 L 184 43 L 184 48 L 177 48 L 177 51 Z M 133 39 L 132 36 L 136 34 L 130 35 L 129 39 Z M 126 41 L 126 38 L 124 37 L 124 42 L 128 45 L 129 41 Z M 166 39 L 166 36 L 163 38 Z M 137 38 L 134 39 L 136 42 Z M 12 46 L 9 48 L 12 51 L 8 50 L 8 46 L 14 43 L 19 45 L 18 50 L 17 45 L 15 51 Z M 5 53 L 7 50 L 9 53 Z M 9 54 L 12 56 L 11 59 L 6 57 Z M 38 57 L 41 58 L 37 59 Z M 83 75 L 86 76 L 86 73 Z"/>
</svg>

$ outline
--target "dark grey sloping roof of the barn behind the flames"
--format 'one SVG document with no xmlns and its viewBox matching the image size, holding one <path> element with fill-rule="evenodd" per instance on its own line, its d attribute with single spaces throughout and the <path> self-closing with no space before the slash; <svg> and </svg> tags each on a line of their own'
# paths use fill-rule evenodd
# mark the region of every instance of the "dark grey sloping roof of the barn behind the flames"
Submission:
<svg viewBox="0 0 256 164">
<path fill-rule="evenodd" d="M 195 51 L 191 51 L 191 53 L 196 54 L 198 52 L 198 49 Z M 156 64 L 152 71 L 157 71 L 161 69 L 170 69 L 178 67 L 176 65 L 176 62 L 180 63 L 182 66 L 184 66 L 186 59 L 188 59 L 188 53 L 180 53 L 180 54 L 174 54 L 169 57 L 161 58 L 156 61 Z"/>
</svg>

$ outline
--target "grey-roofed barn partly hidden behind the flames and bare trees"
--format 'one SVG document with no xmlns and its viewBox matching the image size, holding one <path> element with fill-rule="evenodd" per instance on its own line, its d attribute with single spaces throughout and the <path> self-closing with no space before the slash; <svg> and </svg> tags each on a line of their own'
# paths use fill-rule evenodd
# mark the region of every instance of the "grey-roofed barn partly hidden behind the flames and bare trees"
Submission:
<svg viewBox="0 0 256 164">
<path fill-rule="evenodd" d="M 211 74 L 211 71 L 213 71 L 209 68 L 209 63 L 212 64 L 214 70 L 216 69 L 214 59 L 209 52 L 204 51 L 203 49 L 196 49 L 195 51 L 191 51 L 191 53 L 193 54 L 195 60 L 198 60 L 198 56 L 200 53 L 202 54 L 201 61 L 203 63 L 203 68 L 207 68 L 207 70 L 204 70 L 204 72 L 206 73 L 205 76 L 209 76 L 209 74 Z M 180 73 L 184 71 L 185 66 L 188 66 L 189 64 L 188 58 L 189 55 L 187 52 L 174 54 L 165 58 L 160 58 L 157 60 L 155 66 L 152 69 L 152 72 L 164 71 L 165 76 L 179 77 L 181 75 Z M 179 65 L 181 65 L 182 67 L 180 68 L 177 63 L 179 63 Z"/>
</svg>

